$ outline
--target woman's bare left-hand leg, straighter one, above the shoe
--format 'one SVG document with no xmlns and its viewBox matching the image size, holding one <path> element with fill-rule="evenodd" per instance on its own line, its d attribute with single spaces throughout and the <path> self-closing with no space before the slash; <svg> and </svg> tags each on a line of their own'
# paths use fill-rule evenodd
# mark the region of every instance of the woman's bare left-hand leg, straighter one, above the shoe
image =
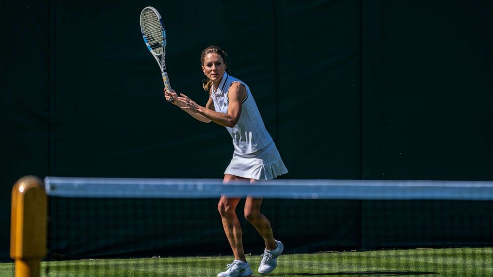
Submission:
<svg viewBox="0 0 493 277">
<path fill-rule="evenodd" d="M 225 174 L 223 183 L 228 183 L 235 180 L 245 180 L 244 178 L 237 177 L 230 174 Z M 221 214 L 221 220 L 223 221 L 224 232 L 230 243 L 233 254 L 235 255 L 235 260 L 241 260 L 246 262 L 245 252 L 243 251 L 243 241 L 242 241 L 242 226 L 238 220 L 235 209 L 240 202 L 239 198 L 227 198 L 221 196 L 217 208 L 219 214 Z"/>
</svg>

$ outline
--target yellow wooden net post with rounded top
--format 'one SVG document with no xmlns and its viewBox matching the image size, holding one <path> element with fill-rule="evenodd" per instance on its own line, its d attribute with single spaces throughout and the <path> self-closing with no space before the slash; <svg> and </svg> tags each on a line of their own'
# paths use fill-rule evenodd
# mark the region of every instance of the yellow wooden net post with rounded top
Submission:
<svg viewBox="0 0 493 277">
<path fill-rule="evenodd" d="M 12 189 L 10 258 L 15 277 L 39 277 L 46 254 L 47 197 L 35 176 L 19 179 Z"/>
</svg>

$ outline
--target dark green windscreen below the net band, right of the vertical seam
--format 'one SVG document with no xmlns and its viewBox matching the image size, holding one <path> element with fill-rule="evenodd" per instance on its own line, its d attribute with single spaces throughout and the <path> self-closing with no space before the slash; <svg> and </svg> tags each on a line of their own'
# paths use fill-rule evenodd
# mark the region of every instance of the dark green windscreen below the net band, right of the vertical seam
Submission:
<svg viewBox="0 0 493 277">
<path fill-rule="evenodd" d="M 492 208 L 492 201 L 362 201 L 361 248 L 487 245 Z"/>
</svg>

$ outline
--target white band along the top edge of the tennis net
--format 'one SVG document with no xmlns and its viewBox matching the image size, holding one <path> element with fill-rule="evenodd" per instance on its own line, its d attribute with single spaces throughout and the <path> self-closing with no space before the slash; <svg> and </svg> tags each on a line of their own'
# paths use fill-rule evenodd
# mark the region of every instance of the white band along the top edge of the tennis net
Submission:
<svg viewBox="0 0 493 277">
<path fill-rule="evenodd" d="M 493 200 L 493 182 L 388 180 L 273 180 L 255 184 L 221 179 L 46 177 L 54 197 L 219 198 L 347 200 Z"/>
</svg>

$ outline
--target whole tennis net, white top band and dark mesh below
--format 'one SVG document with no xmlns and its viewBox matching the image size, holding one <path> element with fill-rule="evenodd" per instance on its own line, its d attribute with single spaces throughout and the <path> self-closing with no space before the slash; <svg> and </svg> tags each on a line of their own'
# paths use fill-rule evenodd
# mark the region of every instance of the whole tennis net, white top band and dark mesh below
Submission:
<svg viewBox="0 0 493 277">
<path fill-rule="evenodd" d="M 493 183 L 47 178 L 42 276 L 217 276 L 234 257 L 218 212 L 236 209 L 257 273 L 265 242 L 244 216 L 263 197 L 284 252 L 271 276 L 492 276 Z M 250 218 L 251 220 L 251 218 Z"/>
</svg>

